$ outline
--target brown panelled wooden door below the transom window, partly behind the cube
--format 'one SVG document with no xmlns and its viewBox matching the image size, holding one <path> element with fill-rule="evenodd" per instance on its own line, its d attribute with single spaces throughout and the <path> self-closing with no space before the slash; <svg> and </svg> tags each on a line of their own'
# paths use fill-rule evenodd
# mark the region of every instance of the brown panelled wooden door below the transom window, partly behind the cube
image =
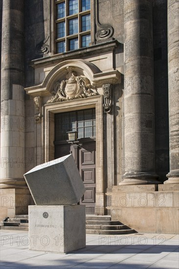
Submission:
<svg viewBox="0 0 179 269">
<path fill-rule="evenodd" d="M 56 116 L 56 118 L 57 117 L 58 115 Z M 58 122 L 56 121 L 56 123 Z M 55 137 L 57 137 L 57 139 L 58 131 L 58 127 L 55 128 Z M 79 203 L 86 205 L 86 214 L 95 214 L 95 137 L 83 137 L 78 139 L 78 141 L 76 142 L 69 142 L 67 140 L 59 141 L 57 139 L 54 141 L 55 158 L 63 157 L 65 155 L 68 155 L 69 153 L 73 155 L 86 188 L 86 192 Z"/>
</svg>

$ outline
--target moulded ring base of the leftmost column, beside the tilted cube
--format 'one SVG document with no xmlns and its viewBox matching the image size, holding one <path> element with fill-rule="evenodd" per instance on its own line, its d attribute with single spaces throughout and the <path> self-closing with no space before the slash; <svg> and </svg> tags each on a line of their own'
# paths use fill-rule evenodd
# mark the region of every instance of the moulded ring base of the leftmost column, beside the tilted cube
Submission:
<svg viewBox="0 0 179 269">
<path fill-rule="evenodd" d="M 25 179 L 0 179 L 0 189 L 28 189 Z"/>
</svg>

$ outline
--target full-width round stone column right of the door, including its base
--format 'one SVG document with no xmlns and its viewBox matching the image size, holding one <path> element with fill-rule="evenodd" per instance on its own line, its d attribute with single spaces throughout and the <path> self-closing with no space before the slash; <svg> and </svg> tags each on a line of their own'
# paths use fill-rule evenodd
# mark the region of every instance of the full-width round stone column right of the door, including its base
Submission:
<svg viewBox="0 0 179 269">
<path fill-rule="evenodd" d="M 151 0 L 125 1 L 124 38 L 125 174 L 119 184 L 156 184 Z"/>
</svg>

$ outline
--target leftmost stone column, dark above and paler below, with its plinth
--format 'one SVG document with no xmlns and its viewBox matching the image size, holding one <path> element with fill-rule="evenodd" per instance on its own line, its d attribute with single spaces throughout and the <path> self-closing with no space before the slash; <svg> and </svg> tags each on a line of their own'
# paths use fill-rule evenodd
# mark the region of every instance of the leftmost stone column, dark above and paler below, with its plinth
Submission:
<svg viewBox="0 0 179 269">
<path fill-rule="evenodd" d="M 24 8 L 23 0 L 3 0 L 1 48 L 0 194 L 2 216 L 23 213 L 26 194 L 24 156 Z M 2 202 L 1 201 L 1 202 Z M 27 207 L 28 204 L 26 204 Z M 8 209 L 10 211 L 8 211 Z"/>
</svg>

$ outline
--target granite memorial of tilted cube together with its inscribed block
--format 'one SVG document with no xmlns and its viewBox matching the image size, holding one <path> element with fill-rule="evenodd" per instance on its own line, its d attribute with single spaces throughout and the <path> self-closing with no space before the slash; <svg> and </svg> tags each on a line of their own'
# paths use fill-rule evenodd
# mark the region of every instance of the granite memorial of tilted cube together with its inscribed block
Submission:
<svg viewBox="0 0 179 269">
<path fill-rule="evenodd" d="M 72 155 L 24 174 L 35 205 L 29 205 L 29 249 L 66 253 L 86 246 L 85 187 Z"/>
</svg>

